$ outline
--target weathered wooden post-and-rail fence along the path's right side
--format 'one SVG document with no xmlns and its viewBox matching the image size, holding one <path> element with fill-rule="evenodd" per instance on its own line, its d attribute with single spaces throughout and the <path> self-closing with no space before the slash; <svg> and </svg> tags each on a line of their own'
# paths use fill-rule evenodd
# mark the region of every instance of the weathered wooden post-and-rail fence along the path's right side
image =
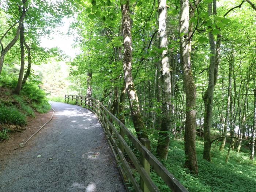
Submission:
<svg viewBox="0 0 256 192">
<path fill-rule="evenodd" d="M 150 141 L 148 139 L 141 139 L 139 141 L 124 124 L 118 120 L 99 100 L 94 98 L 87 98 L 78 95 L 65 95 L 65 101 L 75 101 L 76 105 L 84 105 L 91 110 L 99 119 L 110 144 L 110 147 L 116 157 L 119 165 L 118 169 L 124 183 L 130 180 L 136 192 L 158 192 L 159 189 L 150 177 L 151 170 L 154 170 L 166 183 L 171 191 L 174 192 L 188 192 L 188 190 L 166 169 L 165 166 L 148 150 Z M 116 124 L 114 125 L 113 122 Z M 119 127 L 119 131 L 116 128 Z M 131 141 L 140 152 L 140 159 L 136 157 L 132 149 L 125 142 L 125 136 Z M 127 158 L 129 157 L 129 161 Z M 129 165 L 132 162 L 133 169 L 136 168 L 140 175 L 138 182 Z"/>
</svg>

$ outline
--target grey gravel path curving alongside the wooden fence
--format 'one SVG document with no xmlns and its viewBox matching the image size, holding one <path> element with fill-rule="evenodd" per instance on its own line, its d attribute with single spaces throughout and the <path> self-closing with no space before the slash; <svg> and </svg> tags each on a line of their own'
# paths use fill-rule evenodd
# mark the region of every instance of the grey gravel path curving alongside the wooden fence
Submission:
<svg viewBox="0 0 256 192">
<path fill-rule="evenodd" d="M 97 117 L 79 106 L 51 105 L 52 121 L 24 148 L 0 162 L 0 191 L 124 192 Z"/>
</svg>

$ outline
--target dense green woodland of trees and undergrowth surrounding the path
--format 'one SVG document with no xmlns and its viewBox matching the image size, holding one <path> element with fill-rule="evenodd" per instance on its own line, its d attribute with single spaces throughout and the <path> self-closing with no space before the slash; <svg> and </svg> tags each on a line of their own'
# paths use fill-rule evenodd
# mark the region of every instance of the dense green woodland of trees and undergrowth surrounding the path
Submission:
<svg viewBox="0 0 256 192">
<path fill-rule="evenodd" d="M 47 112 L 46 95 L 84 95 L 150 139 L 189 191 L 256 191 L 255 1 L 0 2 L 1 140 Z M 40 41 L 69 17 L 81 52 L 67 60 Z"/>
</svg>

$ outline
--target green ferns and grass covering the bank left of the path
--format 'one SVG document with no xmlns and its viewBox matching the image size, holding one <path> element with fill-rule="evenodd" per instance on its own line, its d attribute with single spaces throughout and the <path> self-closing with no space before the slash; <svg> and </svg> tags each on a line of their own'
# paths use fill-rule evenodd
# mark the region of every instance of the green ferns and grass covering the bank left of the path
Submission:
<svg viewBox="0 0 256 192">
<path fill-rule="evenodd" d="M 27 81 L 20 95 L 12 94 L 16 87 L 15 73 L 3 70 L 0 78 L 0 141 L 8 139 L 10 130 L 4 125 L 26 125 L 26 116 L 35 117 L 35 112 L 46 113 L 51 106 L 39 82 Z"/>
</svg>

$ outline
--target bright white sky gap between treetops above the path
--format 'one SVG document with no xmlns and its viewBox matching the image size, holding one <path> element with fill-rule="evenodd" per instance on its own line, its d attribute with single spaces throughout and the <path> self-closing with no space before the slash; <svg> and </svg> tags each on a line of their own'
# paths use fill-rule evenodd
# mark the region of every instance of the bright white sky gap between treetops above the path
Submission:
<svg viewBox="0 0 256 192">
<path fill-rule="evenodd" d="M 54 32 L 49 36 L 41 38 L 41 46 L 44 48 L 58 47 L 68 56 L 74 58 L 80 52 L 79 48 L 73 48 L 75 37 L 67 35 L 69 25 L 74 21 L 74 18 L 63 18 L 63 25 L 54 29 Z"/>
</svg>

